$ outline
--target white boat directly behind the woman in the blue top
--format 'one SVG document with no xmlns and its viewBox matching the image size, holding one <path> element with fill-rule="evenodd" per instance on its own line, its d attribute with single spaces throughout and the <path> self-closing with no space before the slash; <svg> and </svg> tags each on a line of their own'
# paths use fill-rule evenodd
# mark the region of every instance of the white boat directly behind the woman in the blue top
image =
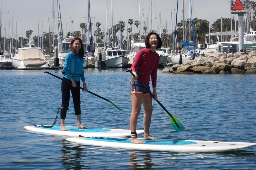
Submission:
<svg viewBox="0 0 256 170">
<path fill-rule="evenodd" d="M 74 36 L 69 36 L 65 38 L 63 42 L 58 43 L 58 58 L 59 58 L 59 67 L 63 67 L 65 63 L 65 56 L 71 51 L 70 42 L 74 38 Z M 86 45 L 83 43 L 82 47 L 84 47 L 84 68 L 87 65 L 87 52 Z"/>
</svg>

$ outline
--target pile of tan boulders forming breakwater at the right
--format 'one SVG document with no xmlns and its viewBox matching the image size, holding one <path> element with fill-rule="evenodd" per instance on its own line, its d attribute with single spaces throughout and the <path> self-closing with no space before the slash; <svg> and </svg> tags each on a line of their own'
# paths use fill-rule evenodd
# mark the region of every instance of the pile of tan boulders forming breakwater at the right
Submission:
<svg viewBox="0 0 256 170">
<path fill-rule="evenodd" d="M 250 53 L 222 53 L 209 51 L 182 64 L 162 70 L 174 74 L 256 74 L 256 51 Z"/>
</svg>

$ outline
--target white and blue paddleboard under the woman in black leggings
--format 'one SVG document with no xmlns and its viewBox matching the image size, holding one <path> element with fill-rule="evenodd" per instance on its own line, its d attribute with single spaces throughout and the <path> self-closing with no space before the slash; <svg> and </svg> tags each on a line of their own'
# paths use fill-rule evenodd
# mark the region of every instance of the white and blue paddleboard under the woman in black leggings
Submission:
<svg viewBox="0 0 256 170">
<path fill-rule="evenodd" d="M 79 135 L 84 137 L 100 136 L 100 137 L 127 137 L 130 136 L 130 130 L 127 129 L 81 129 L 75 126 L 65 126 L 67 131 L 61 131 L 60 126 L 53 126 L 52 128 L 43 128 L 38 126 L 25 126 L 26 130 L 34 132 L 42 132 L 45 134 L 62 135 L 69 137 L 77 137 Z M 143 130 L 137 130 L 137 134 L 144 134 Z"/>
</svg>

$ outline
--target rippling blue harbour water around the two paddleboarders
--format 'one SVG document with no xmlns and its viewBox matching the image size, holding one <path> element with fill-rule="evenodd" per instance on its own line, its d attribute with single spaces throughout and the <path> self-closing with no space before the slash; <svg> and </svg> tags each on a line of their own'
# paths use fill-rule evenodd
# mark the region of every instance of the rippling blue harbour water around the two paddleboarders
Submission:
<svg viewBox="0 0 256 170">
<path fill-rule="evenodd" d="M 82 123 L 129 129 L 130 74 L 126 69 L 85 69 Z M 61 70 L 48 70 L 62 77 Z M 133 151 L 74 145 L 63 136 L 23 129 L 51 125 L 61 104 L 61 81 L 44 70 L 0 70 L 0 169 L 255 169 L 256 147 L 224 153 Z M 177 132 L 153 101 L 151 135 L 162 139 L 256 142 L 256 75 L 178 75 L 158 72 L 158 99 L 186 127 Z M 70 104 L 66 125 L 75 126 Z M 57 121 L 60 125 L 60 118 Z M 143 114 L 138 129 L 143 129 Z"/>
</svg>

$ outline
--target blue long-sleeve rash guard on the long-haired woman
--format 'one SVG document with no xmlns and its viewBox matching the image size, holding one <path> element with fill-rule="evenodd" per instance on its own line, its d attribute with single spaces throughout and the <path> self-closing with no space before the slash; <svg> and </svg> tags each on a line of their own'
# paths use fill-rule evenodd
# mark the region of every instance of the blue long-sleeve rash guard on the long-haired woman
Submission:
<svg viewBox="0 0 256 170">
<path fill-rule="evenodd" d="M 74 81 L 85 81 L 84 77 L 84 58 L 79 57 L 79 53 L 76 53 L 76 56 L 72 51 L 69 51 L 65 56 L 65 63 L 63 67 L 63 72 L 66 73 L 64 76 L 66 79 L 73 78 Z M 71 74 L 80 74 L 80 77 L 71 76 Z"/>
</svg>

